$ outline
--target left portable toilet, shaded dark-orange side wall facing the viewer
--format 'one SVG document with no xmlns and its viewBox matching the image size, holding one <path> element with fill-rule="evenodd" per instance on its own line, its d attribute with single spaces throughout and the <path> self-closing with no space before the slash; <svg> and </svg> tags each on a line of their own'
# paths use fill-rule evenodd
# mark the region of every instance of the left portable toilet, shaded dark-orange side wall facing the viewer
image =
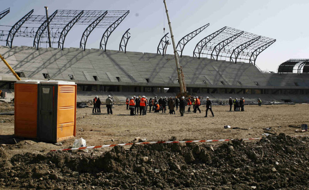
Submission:
<svg viewBox="0 0 309 190">
<path fill-rule="evenodd" d="M 14 134 L 36 138 L 38 85 L 41 80 L 19 80 L 14 84 Z"/>
</svg>

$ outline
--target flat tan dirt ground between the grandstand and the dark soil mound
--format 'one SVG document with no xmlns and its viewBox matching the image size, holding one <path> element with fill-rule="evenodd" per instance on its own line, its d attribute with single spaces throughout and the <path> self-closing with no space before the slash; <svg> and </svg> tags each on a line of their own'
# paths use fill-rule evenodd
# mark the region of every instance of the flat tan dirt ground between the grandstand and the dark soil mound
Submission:
<svg viewBox="0 0 309 190">
<path fill-rule="evenodd" d="M 12 111 L 13 107 L 0 106 L 0 112 Z M 88 146 L 109 145 L 132 142 L 135 137 L 141 137 L 151 141 L 168 140 L 176 136 L 179 140 L 209 140 L 209 139 L 240 139 L 261 137 L 264 128 L 272 127 L 277 132 L 286 135 L 299 135 L 296 128 L 309 123 L 309 104 L 296 105 L 265 105 L 245 106 L 244 112 L 230 112 L 229 106 L 213 106 L 215 117 L 209 113 L 205 116 L 205 106 L 202 113 L 188 113 L 180 117 L 176 114 L 149 113 L 140 116 L 130 116 L 125 106 L 114 106 L 113 115 L 108 115 L 104 106 L 101 106 L 101 114 L 92 114 L 92 108 L 77 109 L 76 137 L 83 137 Z M 167 110 L 168 111 L 168 110 Z M 87 113 L 87 117 L 86 117 Z M 50 149 L 62 149 L 72 146 L 74 139 L 63 142 L 62 146 L 56 146 L 34 139 L 14 137 L 14 115 L 0 115 L 0 144 L 8 145 L 6 149 L 12 155 L 24 152 L 48 152 Z M 224 129 L 224 125 L 231 128 Z M 239 127 L 241 129 L 232 129 Z M 79 131 L 83 129 L 83 131 Z M 244 130 L 247 129 L 247 130 Z M 91 131 L 93 130 L 93 131 Z M 302 135 L 307 135 L 302 133 Z M 15 144 L 13 138 L 18 142 Z M 112 142 L 111 139 L 115 141 Z"/>
</svg>

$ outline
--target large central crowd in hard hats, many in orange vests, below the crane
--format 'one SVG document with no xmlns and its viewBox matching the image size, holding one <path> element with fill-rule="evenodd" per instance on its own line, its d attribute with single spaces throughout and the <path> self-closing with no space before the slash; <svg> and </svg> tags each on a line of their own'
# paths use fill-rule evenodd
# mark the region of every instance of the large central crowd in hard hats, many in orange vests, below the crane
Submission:
<svg viewBox="0 0 309 190">
<path fill-rule="evenodd" d="M 207 101 L 205 117 L 207 117 L 208 110 L 210 110 L 212 116 L 214 117 L 209 97 L 206 97 L 206 100 Z M 185 97 L 160 97 L 159 99 L 157 99 L 157 97 L 154 97 L 150 98 L 148 101 L 148 98 L 145 96 L 133 96 L 130 98 L 130 100 L 129 98 L 127 98 L 125 104 L 127 106 L 127 110 L 130 110 L 130 115 L 136 115 L 138 113 L 140 115 L 146 115 L 148 106 L 149 112 L 153 110 L 155 113 L 159 113 L 160 111 L 162 111 L 162 113 L 166 113 L 168 107 L 169 114 L 176 114 L 175 107 L 176 110 L 178 110 L 179 107 L 180 115 L 184 116 L 186 106 L 188 106 L 188 112 L 191 112 L 191 107 L 193 106 L 193 113 L 196 113 L 197 111 L 201 113 L 201 110 L 199 108 L 201 106 L 201 101 L 198 97 L 189 97 L 187 99 L 185 99 Z"/>
</svg>

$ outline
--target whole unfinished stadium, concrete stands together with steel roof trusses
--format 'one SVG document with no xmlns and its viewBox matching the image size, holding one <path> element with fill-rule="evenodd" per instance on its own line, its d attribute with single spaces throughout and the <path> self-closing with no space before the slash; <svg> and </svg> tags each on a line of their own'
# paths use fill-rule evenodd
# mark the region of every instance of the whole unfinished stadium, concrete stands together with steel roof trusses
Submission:
<svg viewBox="0 0 309 190">
<path fill-rule="evenodd" d="M 3 30 L 0 39 L 6 42 L 6 46 L 0 46 L 0 54 L 23 80 L 74 81 L 78 85 L 78 101 L 89 101 L 95 95 L 113 95 L 116 101 L 124 102 L 132 95 L 168 97 L 179 92 L 174 55 L 165 54 L 168 35 L 160 40 L 157 54 L 127 51 L 129 30 L 122 36 L 119 51 L 106 49 L 108 37 L 129 11 L 57 10 L 49 19 L 32 13 L 33 10 L 10 31 Z M 14 37 L 29 35 L 22 28 L 25 23 L 40 25 L 35 35 L 30 35 L 34 38 L 33 47 L 13 46 Z M 87 25 L 80 48 L 64 48 L 66 34 L 74 24 Z M 177 45 L 188 93 L 218 101 L 244 97 L 247 102 L 257 98 L 271 102 L 309 102 L 305 59 L 293 63 L 299 67 L 297 73 L 282 70 L 283 66 L 278 73 L 262 73 L 256 67 L 257 56 L 274 39 L 223 27 L 199 41 L 193 57 L 182 55 L 184 46 L 208 26 L 184 36 Z M 106 28 L 100 49 L 86 49 L 87 37 L 95 27 Z M 40 47 L 49 42 L 49 48 Z M 281 65 L 287 68 L 289 64 Z M 7 93 L 6 100 L 14 96 L 15 81 L 8 68 L 0 64 L 0 89 Z"/>
</svg>

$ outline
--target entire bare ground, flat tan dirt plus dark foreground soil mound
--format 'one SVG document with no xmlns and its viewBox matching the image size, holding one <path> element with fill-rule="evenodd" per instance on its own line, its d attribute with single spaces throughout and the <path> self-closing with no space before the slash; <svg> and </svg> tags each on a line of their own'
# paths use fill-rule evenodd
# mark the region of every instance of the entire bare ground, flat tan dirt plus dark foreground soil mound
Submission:
<svg viewBox="0 0 309 190">
<path fill-rule="evenodd" d="M 0 112 L 13 110 L 9 104 L 0 105 Z M 80 108 L 76 137 L 61 146 L 14 136 L 14 115 L 0 115 L 0 189 L 309 189 L 309 138 L 290 137 L 308 132 L 295 133 L 300 128 L 289 127 L 309 123 L 309 104 L 245 106 L 244 112 L 213 106 L 215 117 L 208 113 L 207 118 L 205 106 L 201 111 L 184 117 L 179 110 L 176 115 L 148 110 L 147 115 L 130 116 L 125 106 L 114 106 L 113 115 L 105 106 L 101 114 Z M 262 137 L 265 132 L 276 135 L 252 141 L 49 152 L 70 148 L 80 137 L 93 146 L 129 143 L 136 137 L 216 140 Z"/>
</svg>

